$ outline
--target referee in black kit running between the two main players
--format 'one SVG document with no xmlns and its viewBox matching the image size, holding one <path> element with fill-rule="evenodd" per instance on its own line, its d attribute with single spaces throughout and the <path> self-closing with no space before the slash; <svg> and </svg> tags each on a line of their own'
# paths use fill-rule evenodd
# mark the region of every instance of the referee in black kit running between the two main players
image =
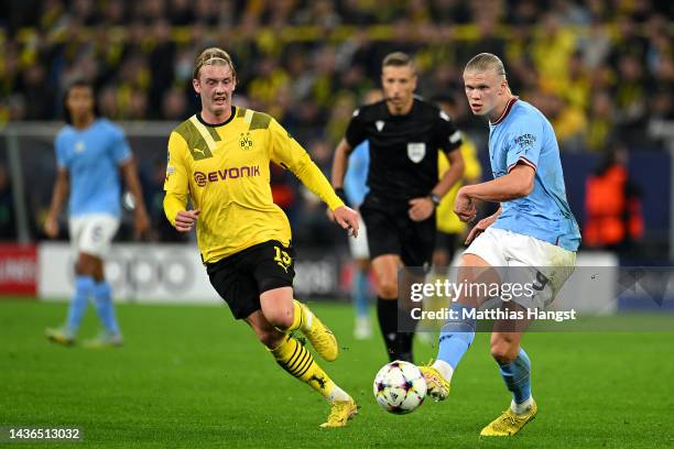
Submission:
<svg viewBox="0 0 674 449">
<path fill-rule="evenodd" d="M 412 361 L 414 333 L 398 329 L 398 271 L 431 264 L 435 207 L 464 174 L 461 136 L 447 114 L 414 96 L 416 73 L 405 53 L 383 59 L 381 84 L 384 100 L 356 110 L 337 145 L 333 186 L 340 195 L 349 153 L 368 140 L 370 191 L 360 212 L 377 275 L 379 325 L 389 358 Z M 439 182 L 438 151 L 447 153 L 450 163 Z M 409 314 L 401 319 L 404 330 L 415 328 Z"/>
</svg>

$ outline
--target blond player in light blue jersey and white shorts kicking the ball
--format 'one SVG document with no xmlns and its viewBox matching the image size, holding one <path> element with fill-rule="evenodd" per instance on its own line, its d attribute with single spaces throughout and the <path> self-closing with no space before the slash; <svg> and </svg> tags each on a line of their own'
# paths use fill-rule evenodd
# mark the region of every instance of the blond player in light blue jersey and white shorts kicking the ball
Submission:
<svg viewBox="0 0 674 449">
<path fill-rule="evenodd" d="M 489 156 L 494 179 L 464 186 L 454 209 L 463 221 L 477 216 L 475 202 L 500 202 L 491 217 L 468 234 L 459 282 L 503 282 L 503 273 L 533 276 L 535 294 L 503 299 L 504 310 L 524 311 L 548 305 L 573 273 L 580 243 L 578 225 L 566 200 L 559 149 L 550 121 L 532 105 L 513 96 L 503 63 L 494 55 L 475 56 L 464 70 L 470 109 L 489 119 Z M 512 270 L 513 267 L 517 267 Z M 510 269 L 504 271 L 503 269 Z M 421 366 L 428 393 L 444 399 L 457 364 L 472 343 L 476 319 L 470 311 L 489 298 L 461 294 L 439 337 L 437 360 Z M 453 317 L 454 318 L 454 317 Z M 531 390 L 531 361 L 520 342 L 528 321 L 497 320 L 491 354 L 499 364 L 510 407 L 485 427 L 482 436 L 517 434 L 537 413 Z"/>
</svg>

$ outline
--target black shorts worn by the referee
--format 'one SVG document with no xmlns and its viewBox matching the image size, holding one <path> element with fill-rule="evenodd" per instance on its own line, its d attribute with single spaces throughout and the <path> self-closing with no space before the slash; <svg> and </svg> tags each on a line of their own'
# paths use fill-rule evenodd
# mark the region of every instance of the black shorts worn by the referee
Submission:
<svg viewBox="0 0 674 449">
<path fill-rule="evenodd" d="M 407 209 L 387 210 L 372 202 L 366 199 L 360 207 L 368 229 L 370 259 L 399 254 L 405 266 L 428 269 L 435 248 L 435 212 L 424 221 L 413 221 Z"/>
</svg>

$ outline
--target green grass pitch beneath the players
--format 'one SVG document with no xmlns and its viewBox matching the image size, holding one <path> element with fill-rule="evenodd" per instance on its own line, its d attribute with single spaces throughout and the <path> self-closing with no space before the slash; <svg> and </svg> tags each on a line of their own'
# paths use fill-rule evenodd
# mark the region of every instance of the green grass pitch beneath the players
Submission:
<svg viewBox="0 0 674 449">
<path fill-rule="evenodd" d="M 318 428 L 323 398 L 284 373 L 225 306 L 122 305 L 124 347 L 87 350 L 43 336 L 63 321 L 64 303 L 17 299 L 0 300 L 0 426 L 83 429 L 83 442 L 47 447 L 674 447 L 672 332 L 528 335 L 539 416 L 517 437 L 494 440 L 479 431 L 510 397 L 488 335 L 477 336 L 446 402 L 394 416 L 372 397 L 385 363 L 380 337 L 354 341 L 347 305 L 312 307 L 343 347 L 322 365 L 361 405 L 346 428 Z M 80 335 L 93 336 L 96 321 L 90 309 Z M 417 342 L 416 354 L 425 362 L 435 349 Z"/>
</svg>

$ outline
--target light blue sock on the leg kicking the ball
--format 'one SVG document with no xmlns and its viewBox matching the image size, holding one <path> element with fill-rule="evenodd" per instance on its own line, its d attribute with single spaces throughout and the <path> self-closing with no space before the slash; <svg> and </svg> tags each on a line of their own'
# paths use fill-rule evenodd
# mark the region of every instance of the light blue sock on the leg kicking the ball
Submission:
<svg viewBox="0 0 674 449">
<path fill-rule="evenodd" d="M 456 311 L 456 319 L 448 319 L 441 331 L 437 359 L 449 363 L 453 370 L 456 369 L 475 339 L 476 320 L 464 317 L 464 310 L 471 309 L 472 307 L 460 303 L 452 303 L 449 310 Z"/>
</svg>

